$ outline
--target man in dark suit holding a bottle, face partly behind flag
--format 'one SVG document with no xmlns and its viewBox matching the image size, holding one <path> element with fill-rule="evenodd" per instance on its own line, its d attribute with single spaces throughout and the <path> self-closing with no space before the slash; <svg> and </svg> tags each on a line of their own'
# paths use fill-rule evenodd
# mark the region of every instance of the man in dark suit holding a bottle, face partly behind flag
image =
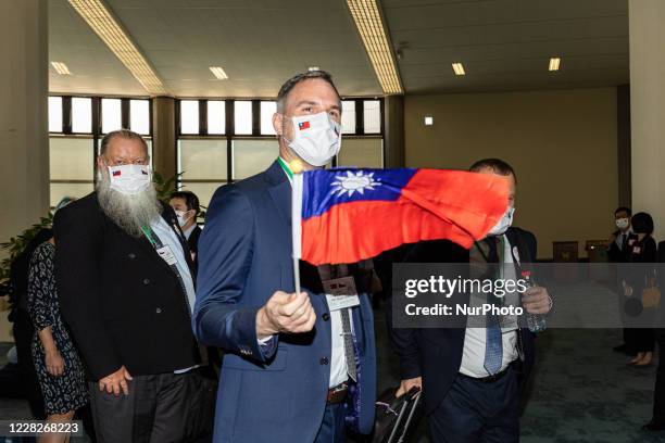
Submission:
<svg viewBox="0 0 665 443">
<path fill-rule="evenodd" d="M 503 218 L 470 250 L 447 240 L 426 241 L 413 246 L 404 262 L 498 263 L 503 269 L 501 278 L 515 279 L 523 263 L 536 261 L 534 235 L 511 227 L 515 172 L 499 159 L 480 160 L 469 170 L 510 180 L 510 207 Z M 544 315 L 552 307 L 542 287 L 514 295 L 516 304 L 530 314 Z M 509 327 L 394 328 L 391 309 L 387 311 L 390 338 L 400 357 L 402 382 L 397 396 L 414 387 L 423 389 L 435 443 L 519 441 L 517 406 L 535 356 L 534 333 L 528 328 L 516 322 Z"/>
</svg>

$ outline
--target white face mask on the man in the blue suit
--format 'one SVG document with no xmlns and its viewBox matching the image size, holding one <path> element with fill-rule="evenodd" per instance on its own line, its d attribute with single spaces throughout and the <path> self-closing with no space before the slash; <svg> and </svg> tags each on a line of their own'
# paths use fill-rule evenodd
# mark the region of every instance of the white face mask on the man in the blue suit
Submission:
<svg viewBox="0 0 665 443">
<path fill-rule="evenodd" d="M 283 137 L 302 160 L 312 166 L 324 166 L 338 154 L 341 148 L 341 126 L 328 113 L 289 118 L 293 122 L 293 140 Z"/>
</svg>

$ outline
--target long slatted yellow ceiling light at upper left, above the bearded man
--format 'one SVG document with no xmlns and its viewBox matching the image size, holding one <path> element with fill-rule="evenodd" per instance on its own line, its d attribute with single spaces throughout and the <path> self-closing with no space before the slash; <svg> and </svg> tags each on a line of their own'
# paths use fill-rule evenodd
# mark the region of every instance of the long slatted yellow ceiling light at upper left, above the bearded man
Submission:
<svg viewBox="0 0 665 443">
<path fill-rule="evenodd" d="M 70 0 L 70 4 L 148 92 L 166 93 L 160 77 L 102 0 Z"/>
</svg>

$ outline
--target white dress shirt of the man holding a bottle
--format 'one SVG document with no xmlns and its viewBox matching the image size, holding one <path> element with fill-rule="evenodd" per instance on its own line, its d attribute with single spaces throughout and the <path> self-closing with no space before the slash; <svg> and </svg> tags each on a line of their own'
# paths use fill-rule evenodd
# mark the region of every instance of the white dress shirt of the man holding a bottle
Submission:
<svg viewBox="0 0 665 443">
<path fill-rule="evenodd" d="M 503 236 L 503 263 L 513 264 L 513 253 L 511 243 Z M 502 266 L 504 279 L 515 279 L 515 266 Z M 507 296 L 507 295 L 506 295 Z M 485 303 L 485 294 L 474 298 L 470 296 L 472 304 L 474 300 Z M 501 369 L 504 370 L 507 366 L 518 357 L 517 352 L 517 331 L 514 328 L 502 328 L 501 342 L 503 345 L 503 358 Z M 466 328 L 464 336 L 464 350 L 462 353 L 462 364 L 460 372 L 474 378 L 488 377 L 489 374 L 485 369 L 485 347 L 487 343 L 487 330 L 485 328 Z"/>
</svg>

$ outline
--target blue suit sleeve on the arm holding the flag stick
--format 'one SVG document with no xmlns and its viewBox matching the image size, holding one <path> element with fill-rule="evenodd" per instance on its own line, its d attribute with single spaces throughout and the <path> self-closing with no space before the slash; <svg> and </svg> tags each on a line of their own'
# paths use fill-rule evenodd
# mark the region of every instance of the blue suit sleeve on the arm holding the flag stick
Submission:
<svg viewBox="0 0 665 443">
<path fill-rule="evenodd" d="M 254 229 L 247 195 L 234 186 L 217 189 L 199 240 L 192 327 L 200 342 L 263 363 L 277 346 L 259 345 L 258 308 L 241 303 L 252 263 Z"/>
</svg>

